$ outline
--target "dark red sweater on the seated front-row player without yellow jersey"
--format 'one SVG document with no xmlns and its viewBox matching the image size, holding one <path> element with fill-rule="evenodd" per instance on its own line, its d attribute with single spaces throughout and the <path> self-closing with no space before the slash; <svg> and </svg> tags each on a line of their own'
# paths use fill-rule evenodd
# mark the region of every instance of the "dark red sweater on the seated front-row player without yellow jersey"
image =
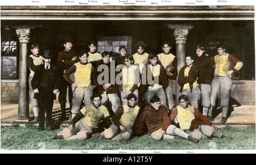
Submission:
<svg viewBox="0 0 256 165">
<path fill-rule="evenodd" d="M 139 116 L 136 133 L 142 135 L 147 127 L 148 133 L 151 134 L 162 128 L 166 132 L 171 120 L 168 116 L 168 110 L 161 105 L 159 110 L 155 110 L 151 105 L 147 105 Z"/>
</svg>

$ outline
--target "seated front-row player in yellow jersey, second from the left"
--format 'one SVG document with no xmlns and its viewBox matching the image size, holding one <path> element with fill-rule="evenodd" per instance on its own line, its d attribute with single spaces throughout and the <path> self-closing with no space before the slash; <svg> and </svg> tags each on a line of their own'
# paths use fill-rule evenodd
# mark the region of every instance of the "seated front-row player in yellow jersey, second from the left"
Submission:
<svg viewBox="0 0 256 165">
<path fill-rule="evenodd" d="M 100 138 L 113 140 L 129 140 L 133 134 L 140 108 L 135 104 L 137 97 L 131 93 L 127 96 L 127 104 L 118 107 L 112 117 L 113 124 L 101 133 Z"/>
</svg>

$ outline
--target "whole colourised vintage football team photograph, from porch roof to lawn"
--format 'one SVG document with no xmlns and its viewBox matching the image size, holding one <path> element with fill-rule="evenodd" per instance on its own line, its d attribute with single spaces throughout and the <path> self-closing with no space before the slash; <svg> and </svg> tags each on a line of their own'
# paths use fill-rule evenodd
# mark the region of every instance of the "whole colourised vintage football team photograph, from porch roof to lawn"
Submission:
<svg viewBox="0 0 256 165">
<path fill-rule="evenodd" d="M 1 6 L 13 150 L 254 152 L 254 6 Z"/>
</svg>

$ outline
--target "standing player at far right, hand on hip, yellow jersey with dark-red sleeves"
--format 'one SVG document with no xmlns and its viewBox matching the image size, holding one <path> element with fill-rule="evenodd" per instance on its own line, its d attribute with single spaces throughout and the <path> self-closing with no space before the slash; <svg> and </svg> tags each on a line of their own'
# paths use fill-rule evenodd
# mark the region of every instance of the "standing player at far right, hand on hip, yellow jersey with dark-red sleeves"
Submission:
<svg viewBox="0 0 256 165">
<path fill-rule="evenodd" d="M 212 107 L 209 110 L 209 118 L 213 120 L 212 117 L 212 109 L 215 106 L 215 101 L 218 95 L 218 91 L 220 91 L 220 100 L 222 106 L 222 118 L 221 123 L 226 122 L 226 115 L 228 113 L 229 107 L 229 95 L 232 88 L 232 80 L 231 75 L 232 73 L 238 71 L 243 66 L 243 63 L 234 57 L 232 54 L 226 53 L 226 46 L 225 45 L 218 45 L 217 51 L 218 54 L 214 56 L 214 78 L 211 84 L 212 93 L 210 95 L 210 103 Z M 229 70 L 230 63 L 236 63 L 236 66 L 232 70 Z"/>
</svg>

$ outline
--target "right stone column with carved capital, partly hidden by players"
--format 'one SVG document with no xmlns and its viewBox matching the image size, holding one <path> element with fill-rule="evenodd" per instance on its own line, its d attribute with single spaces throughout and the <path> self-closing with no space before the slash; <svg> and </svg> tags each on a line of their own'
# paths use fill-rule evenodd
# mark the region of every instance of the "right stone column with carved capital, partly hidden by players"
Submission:
<svg viewBox="0 0 256 165">
<path fill-rule="evenodd" d="M 176 58 L 177 58 L 177 78 L 176 78 L 176 105 L 179 104 L 180 86 L 177 83 L 181 67 L 185 66 L 185 45 L 189 29 L 193 28 L 188 24 L 166 24 L 168 28 L 174 29 L 176 40 Z"/>
</svg>

